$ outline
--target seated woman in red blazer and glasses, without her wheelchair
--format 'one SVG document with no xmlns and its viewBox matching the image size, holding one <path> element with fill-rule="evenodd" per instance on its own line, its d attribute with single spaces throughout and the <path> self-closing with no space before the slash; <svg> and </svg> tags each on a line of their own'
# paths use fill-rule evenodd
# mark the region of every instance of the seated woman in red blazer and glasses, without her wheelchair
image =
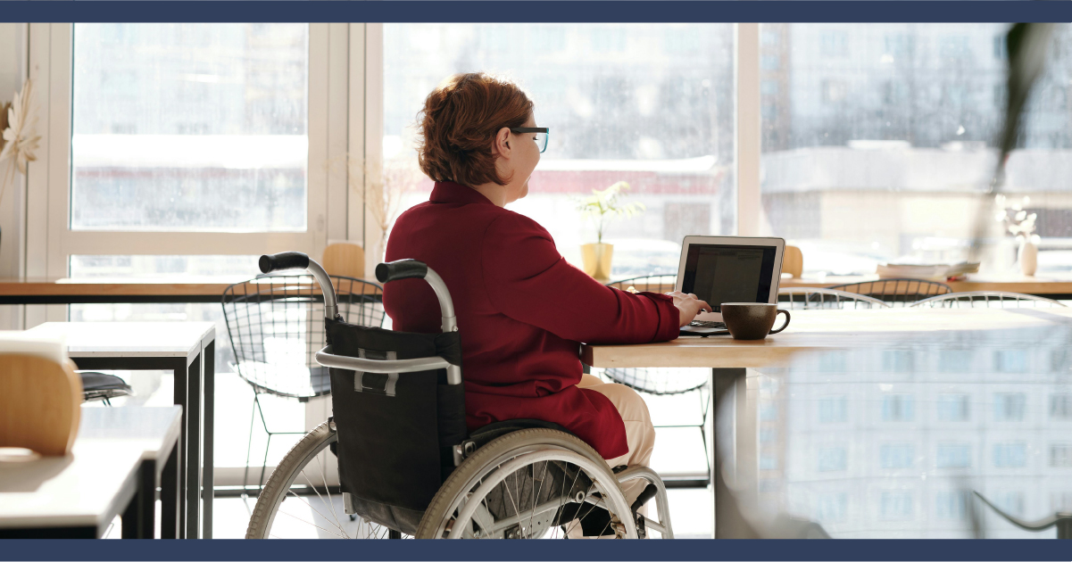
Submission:
<svg viewBox="0 0 1072 562">
<path fill-rule="evenodd" d="M 418 160 L 435 186 L 394 223 L 386 257 L 423 261 L 450 288 L 470 429 L 544 420 L 611 467 L 647 466 L 655 430 L 643 399 L 582 375 L 578 343 L 673 339 L 708 303 L 605 287 L 566 262 L 540 225 L 505 209 L 527 195 L 546 149 L 533 107 L 516 85 L 486 74 L 451 76 L 428 95 Z M 384 307 L 397 330 L 438 331 L 435 295 L 420 280 L 386 285 Z M 628 486 L 627 499 L 643 487 Z"/>
</svg>

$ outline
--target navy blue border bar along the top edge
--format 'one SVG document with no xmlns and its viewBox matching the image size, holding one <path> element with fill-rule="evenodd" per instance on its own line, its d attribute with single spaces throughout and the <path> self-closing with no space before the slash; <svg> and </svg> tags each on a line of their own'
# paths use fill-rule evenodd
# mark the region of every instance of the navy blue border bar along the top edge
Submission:
<svg viewBox="0 0 1072 562">
<path fill-rule="evenodd" d="M 1072 21 L 1064 1 L 706 1 L 601 0 L 280 0 L 256 2 L 162 0 L 126 2 L 0 2 L 3 21 L 765 21 L 765 22 L 1010 22 Z"/>
</svg>

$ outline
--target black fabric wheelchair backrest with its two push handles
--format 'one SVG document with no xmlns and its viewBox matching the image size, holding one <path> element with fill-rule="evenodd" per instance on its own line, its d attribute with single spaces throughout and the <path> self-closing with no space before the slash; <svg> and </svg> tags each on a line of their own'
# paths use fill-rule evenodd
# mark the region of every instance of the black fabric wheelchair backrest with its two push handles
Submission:
<svg viewBox="0 0 1072 562">
<path fill-rule="evenodd" d="M 355 513 L 413 534 L 466 437 L 461 338 L 446 284 L 412 259 L 376 267 L 383 284 L 421 278 L 435 291 L 443 333 L 414 334 L 343 321 L 327 272 L 304 254 L 262 256 L 259 267 L 303 269 L 321 285 L 327 346 L 315 359 L 330 367 L 342 489 Z"/>
</svg>

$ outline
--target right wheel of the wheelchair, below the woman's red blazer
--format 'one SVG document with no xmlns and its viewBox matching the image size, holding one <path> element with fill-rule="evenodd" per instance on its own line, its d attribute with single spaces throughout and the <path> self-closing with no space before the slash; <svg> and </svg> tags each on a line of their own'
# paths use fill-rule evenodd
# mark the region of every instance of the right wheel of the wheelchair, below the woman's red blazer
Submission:
<svg viewBox="0 0 1072 562">
<path fill-rule="evenodd" d="M 617 479 L 598 453 L 554 429 L 476 450 L 432 499 L 417 538 L 636 538 Z"/>
</svg>

